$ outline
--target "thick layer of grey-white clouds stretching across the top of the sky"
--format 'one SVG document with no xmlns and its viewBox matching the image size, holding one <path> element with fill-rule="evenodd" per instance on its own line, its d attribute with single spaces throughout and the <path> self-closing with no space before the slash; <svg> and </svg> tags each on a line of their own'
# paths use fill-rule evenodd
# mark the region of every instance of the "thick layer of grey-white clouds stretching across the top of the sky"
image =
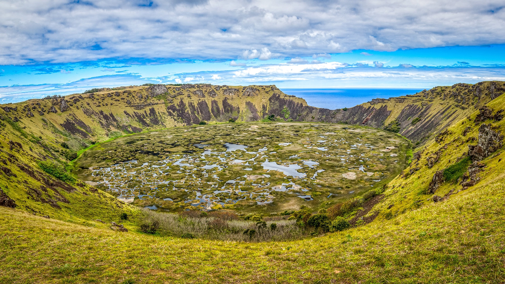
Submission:
<svg viewBox="0 0 505 284">
<path fill-rule="evenodd" d="M 502 1 L 0 2 L 0 65 L 307 57 L 505 43 Z"/>
</svg>

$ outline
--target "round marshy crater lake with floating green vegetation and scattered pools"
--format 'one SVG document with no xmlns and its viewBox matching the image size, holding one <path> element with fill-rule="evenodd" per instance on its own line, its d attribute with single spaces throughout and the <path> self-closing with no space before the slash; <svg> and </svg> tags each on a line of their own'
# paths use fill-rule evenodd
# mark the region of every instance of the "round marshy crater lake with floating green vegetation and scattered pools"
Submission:
<svg viewBox="0 0 505 284">
<path fill-rule="evenodd" d="M 406 166 L 408 141 L 341 124 L 229 123 L 120 137 L 74 173 L 153 210 L 279 211 L 346 199 Z"/>
</svg>

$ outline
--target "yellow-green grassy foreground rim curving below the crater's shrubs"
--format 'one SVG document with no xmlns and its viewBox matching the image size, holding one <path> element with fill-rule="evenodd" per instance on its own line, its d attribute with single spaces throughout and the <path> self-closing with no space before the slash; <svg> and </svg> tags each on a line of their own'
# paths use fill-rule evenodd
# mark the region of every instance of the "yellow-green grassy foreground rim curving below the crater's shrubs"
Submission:
<svg viewBox="0 0 505 284">
<path fill-rule="evenodd" d="M 0 208 L 3 283 L 499 283 L 505 184 L 294 242 L 120 233 Z"/>
</svg>

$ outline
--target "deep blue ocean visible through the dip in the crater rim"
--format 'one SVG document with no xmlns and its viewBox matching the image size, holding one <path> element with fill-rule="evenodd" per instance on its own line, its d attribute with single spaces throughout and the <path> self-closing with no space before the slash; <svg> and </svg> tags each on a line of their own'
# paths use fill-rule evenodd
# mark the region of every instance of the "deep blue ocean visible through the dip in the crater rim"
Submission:
<svg viewBox="0 0 505 284">
<path fill-rule="evenodd" d="M 377 88 L 281 88 L 286 94 L 303 98 L 309 106 L 325 109 L 351 108 L 370 102 L 372 99 L 389 99 L 406 94 L 415 94 L 423 89 L 377 89 Z"/>
</svg>

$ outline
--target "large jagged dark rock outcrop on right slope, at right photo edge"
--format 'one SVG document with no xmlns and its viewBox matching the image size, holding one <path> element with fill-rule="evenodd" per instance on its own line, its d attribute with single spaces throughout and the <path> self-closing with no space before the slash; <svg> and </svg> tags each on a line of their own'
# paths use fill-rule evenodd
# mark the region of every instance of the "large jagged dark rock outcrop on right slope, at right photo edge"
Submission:
<svg viewBox="0 0 505 284">
<path fill-rule="evenodd" d="M 468 156 L 472 161 L 480 161 L 501 148 L 503 136 L 491 129 L 491 123 L 479 127 L 477 145 L 468 146 Z"/>
</svg>

